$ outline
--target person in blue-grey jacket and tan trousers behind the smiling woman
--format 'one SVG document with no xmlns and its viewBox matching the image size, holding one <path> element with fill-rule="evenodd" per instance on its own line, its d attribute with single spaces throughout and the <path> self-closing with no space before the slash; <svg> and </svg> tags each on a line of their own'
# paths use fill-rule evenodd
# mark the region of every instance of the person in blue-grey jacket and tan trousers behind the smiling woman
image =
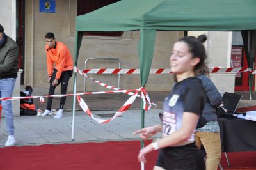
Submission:
<svg viewBox="0 0 256 170">
<path fill-rule="evenodd" d="M 216 107 L 221 104 L 221 95 L 214 83 L 207 77 L 209 71 L 202 68 L 196 73 L 205 88 L 207 99 L 202 116 L 207 120 L 204 127 L 196 129 L 196 146 L 203 144 L 206 151 L 206 170 L 216 170 L 221 159 L 220 127 L 217 121 Z"/>
</svg>

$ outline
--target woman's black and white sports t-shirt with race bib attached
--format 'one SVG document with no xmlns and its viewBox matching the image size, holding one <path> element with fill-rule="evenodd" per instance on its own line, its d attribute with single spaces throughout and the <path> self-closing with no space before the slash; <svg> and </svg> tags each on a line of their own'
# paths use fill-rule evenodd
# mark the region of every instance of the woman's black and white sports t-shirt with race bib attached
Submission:
<svg viewBox="0 0 256 170">
<path fill-rule="evenodd" d="M 164 100 L 163 135 L 172 134 L 181 128 L 184 112 L 193 112 L 200 116 L 204 109 L 205 98 L 205 90 L 200 79 L 189 77 L 177 82 Z M 188 141 L 195 141 L 194 134 Z"/>
</svg>

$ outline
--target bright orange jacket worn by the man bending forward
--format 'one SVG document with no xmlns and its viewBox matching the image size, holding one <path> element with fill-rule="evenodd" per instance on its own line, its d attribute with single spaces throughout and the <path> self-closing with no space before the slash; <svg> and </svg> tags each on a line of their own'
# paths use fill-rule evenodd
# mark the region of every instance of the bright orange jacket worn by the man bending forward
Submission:
<svg viewBox="0 0 256 170">
<path fill-rule="evenodd" d="M 48 75 L 52 76 L 53 64 L 57 71 L 56 79 L 60 79 L 61 73 L 67 70 L 73 70 L 73 61 L 68 47 L 61 42 L 56 42 L 56 49 L 49 48 L 49 45 L 45 45 L 46 58 L 47 58 L 47 71 Z"/>
</svg>

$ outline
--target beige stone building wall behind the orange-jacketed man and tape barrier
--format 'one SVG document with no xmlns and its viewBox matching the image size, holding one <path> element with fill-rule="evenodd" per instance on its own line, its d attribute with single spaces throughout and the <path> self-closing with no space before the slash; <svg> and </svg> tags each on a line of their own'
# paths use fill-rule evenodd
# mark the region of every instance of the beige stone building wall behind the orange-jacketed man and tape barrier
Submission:
<svg viewBox="0 0 256 170">
<path fill-rule="evenodd" d="M 47 84 L 47 67 L 45 58 L 45 34 L 52 31 L 56 40 L 65 43 L 74 54 L 74 29 L 76 1 L 56 1 L 56 13 L 38 12 L 39 1 L 26 1 L 26 85 L 45 87 Z M 33 17 L 31 17 L 33 16 Z M 152 68 L 170 68 L 169 57 L 172 46 L 180 38 L 177 31 L 157 32 L 156 47 Z M 124 32 L 122 37 L 84 36 L 79 52 L 78 68 L 84 69 L 88 58 L 118 58 L 122 68 L 139 68 L 138 31 Z M 32 43 L 33 42 L 33 43 Z M 117 68 L 116 63 L 88 62 L 88 68 Z M 102 82 L 116 86 L 117 77 L 113 75 L 93 75 Z M 161 86 L 159 86 L 161 82 Z M 157 84 L 157 85 L 156 85 Z M 68 91 L 72 91 L 73 79 L 70 79 Z M 140 75 L 121 75 L 120 87 L 124 89 L 139 88 Z M 147 90 L 169 90 L 172 86 L 170 75 L 150 75 Z M 83 91 L 84 77 L 77 76 L 77 91 Z M 102 91 L 105 88 L 88 81 L 87 91 Z M 60 91 L 60 88 L 57 88 Z"/>
</svg>

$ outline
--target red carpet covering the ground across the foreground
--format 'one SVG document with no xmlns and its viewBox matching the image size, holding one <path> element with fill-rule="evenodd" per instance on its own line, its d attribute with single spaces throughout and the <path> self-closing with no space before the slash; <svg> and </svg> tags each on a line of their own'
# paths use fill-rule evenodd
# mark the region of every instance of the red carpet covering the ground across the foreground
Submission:
<svg viewBox="0 0 256 170">
<path fill-rule="evenodd" d="M 137 161 L 140 141 L 110 141 L 105 143 L 45 144 L 40 146 L 20 146 L 0 148 L 1 170 L 40 169 L 141 169 Z M 256 152 L 228 153 L 229 169 L 256 169 Z M 152 169 L 157 151 L 147 155 L 145 169 Z M 226 169 L 225 155 L 221 165 Z"/>
</svg>

